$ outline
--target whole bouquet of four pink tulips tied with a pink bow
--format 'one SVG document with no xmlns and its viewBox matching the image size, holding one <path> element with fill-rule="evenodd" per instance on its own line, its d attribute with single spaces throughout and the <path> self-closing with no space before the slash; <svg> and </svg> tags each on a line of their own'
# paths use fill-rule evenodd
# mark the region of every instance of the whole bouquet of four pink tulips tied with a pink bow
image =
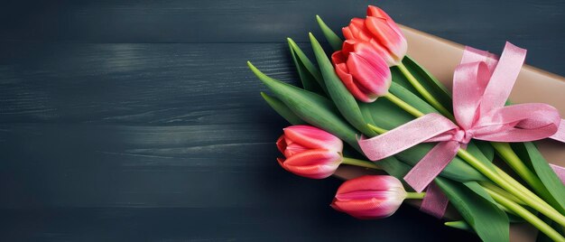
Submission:
<svg viewBox="0 0 565 242">
<path fill-rule="evenodd" d="M 342 164 L 387 173 L 339 187 L 331 207 L 358 219 L 385 218 L 403 200 L 422 200 L 421 210 L 438 218 L 450 203 L 459 219 L 445 224 L 485 241 L 508 241 L 511 223 L 565 241 L 562 168 L 531 143 L 565 142 L 565 121 L 549 105 L 507 100 L 525 50 L 506 43 L 498 58 L 467 48 L 449 93 L 406 56 L 403 33 L 378 7 L 343 28 L 345 41 L 317 21 L 330 55 L 312 33 L 315 61 L 288 39 L 301 88 L 248 62 L 272 93 L 261 93 L 264 100 L 292 124 L 276 142 L 283 169 L 312 179 Z"/>
</svg>

